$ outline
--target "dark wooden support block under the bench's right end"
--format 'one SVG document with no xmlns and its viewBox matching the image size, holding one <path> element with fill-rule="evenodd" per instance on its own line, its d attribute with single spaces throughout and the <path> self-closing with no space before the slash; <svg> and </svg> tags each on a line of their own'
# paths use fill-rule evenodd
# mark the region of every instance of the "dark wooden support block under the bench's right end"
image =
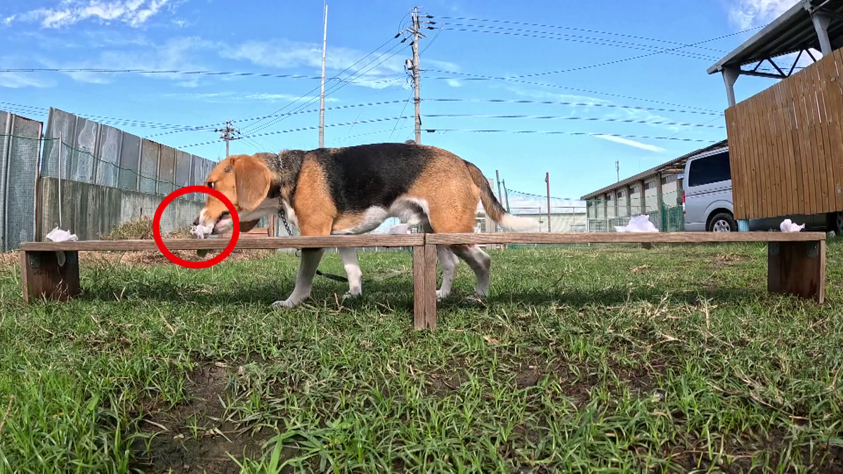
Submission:
<svg viewBox="0 0 843 474">
<path fill-rule="evenodd" d="M 825 240 L 771 242 L 767 247 L 767 291 L 825 300 Z"/>
</svg>

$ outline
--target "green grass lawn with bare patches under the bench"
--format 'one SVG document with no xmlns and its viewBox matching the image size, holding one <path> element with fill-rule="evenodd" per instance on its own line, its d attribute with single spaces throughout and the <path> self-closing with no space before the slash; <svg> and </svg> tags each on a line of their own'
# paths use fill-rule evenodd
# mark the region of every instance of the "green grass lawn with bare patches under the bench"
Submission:
<svg viewBox="0 0 843 474">
<path fill-rule="evenodd" d="M 843 470 L 843 245 L 821 307 L 766 293 L 763 245 L 491 255 L 435 332 L 404 252 L 287 312 L 289 255 L 83 259 L 79 299 L 29 306 L 0 267 L 0 471 Z"/>
</svg>

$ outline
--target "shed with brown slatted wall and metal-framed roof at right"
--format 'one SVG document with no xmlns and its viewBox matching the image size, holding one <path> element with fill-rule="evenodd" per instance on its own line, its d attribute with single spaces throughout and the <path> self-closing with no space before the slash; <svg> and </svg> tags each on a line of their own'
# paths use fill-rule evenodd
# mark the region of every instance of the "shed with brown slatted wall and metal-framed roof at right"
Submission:
<svg viewBox="0 0 843 474">
<path fill-rule="evenodd" d="M 819 214 L 840 230 L 840 46 L 843 0 L 804 0 L 708 69 L 726 84 L 733 207 L 742 230 L 747 219 Z M 741 75 L 781 80 L 736 102 Z"/>
</svg>

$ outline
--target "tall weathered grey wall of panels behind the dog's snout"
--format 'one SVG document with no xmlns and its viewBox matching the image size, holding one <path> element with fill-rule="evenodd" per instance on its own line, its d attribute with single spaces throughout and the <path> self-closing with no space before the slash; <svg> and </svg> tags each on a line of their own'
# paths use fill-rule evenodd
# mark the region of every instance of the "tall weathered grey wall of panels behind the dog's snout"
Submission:
<svg viewBox="0 0 843 474">
<path fill-rule="evenodd" d="M 152 217 L 164 196 L 201 184 L 215 164 L 55 108 L 47 118 L 44 143 L 38 210 L 43 224 L 37 229 L 41 240 L 60 223 L 79 239 L 94 240 L 117 224 Z M 203 198 L 173 202 L 162 218 L 162 230 L 189 226 Z"/>
</svg>

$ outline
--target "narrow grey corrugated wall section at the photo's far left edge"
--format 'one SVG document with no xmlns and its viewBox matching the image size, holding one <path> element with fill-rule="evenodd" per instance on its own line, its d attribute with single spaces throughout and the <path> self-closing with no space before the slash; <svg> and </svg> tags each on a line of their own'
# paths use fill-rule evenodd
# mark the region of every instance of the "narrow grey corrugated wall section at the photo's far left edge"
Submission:
<svg viewBox="0 0 843 474">
<path fill-rule="evenodd" d="M 0 111 L 0 250 L 35 239 L 35 179 L 43 124 Z"/>
</svg>

